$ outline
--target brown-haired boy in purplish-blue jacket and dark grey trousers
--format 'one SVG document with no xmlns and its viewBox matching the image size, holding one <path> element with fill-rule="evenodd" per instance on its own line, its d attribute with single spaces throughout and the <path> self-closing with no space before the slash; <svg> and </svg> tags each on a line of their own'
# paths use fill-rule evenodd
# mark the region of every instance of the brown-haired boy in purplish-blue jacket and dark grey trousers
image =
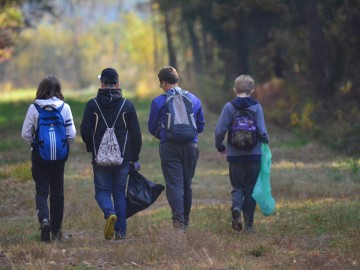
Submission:
<svg viewBox="0 0 360 270">
<path fill-rule="evenodd" d="M 178 91 L 179 76 L 175 68 L 167 66 L 158 73 L 160 88 L 167 91 Z M 175 228 L 185 232 L 189 226 L 189 216 L 192 204 L 191 182 L 195 173 L 199 157 L 198 136 L 191 141 L 178 143 L 166 139 L 166 94 L 161 94 L 153 99 L 148 129 L 160 141 L 159 153 L 161 168 L 166 182 L 166 197 L 172 211 L 172 221 Z M 205 120 L 201 101 L 194 94 L 188 92 L 193 105 L 193 113 L 197 132 L 204 130 Z"/>
</svg>

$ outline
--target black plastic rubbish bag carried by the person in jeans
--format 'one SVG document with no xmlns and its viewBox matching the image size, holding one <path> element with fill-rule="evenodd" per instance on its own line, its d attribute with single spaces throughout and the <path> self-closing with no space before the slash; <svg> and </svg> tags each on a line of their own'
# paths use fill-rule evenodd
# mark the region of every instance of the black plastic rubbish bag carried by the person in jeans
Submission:
<svg viewBox="0 0 360 270">
<path fill-rule="evenodd" d="M 146 179 L 138 171 L 131 171 L 126 194 L 126 218 L 149 207 L 164 189 L 163 185 Z"/>
</svg>

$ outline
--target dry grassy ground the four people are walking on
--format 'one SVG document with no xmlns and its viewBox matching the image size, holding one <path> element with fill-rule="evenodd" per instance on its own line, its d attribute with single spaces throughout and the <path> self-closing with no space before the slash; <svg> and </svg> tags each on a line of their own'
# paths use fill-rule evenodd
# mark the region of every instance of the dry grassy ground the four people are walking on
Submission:
<svg viewBox="0 0 360 270">
<path fill-rule="evenodd" d="M 128 219 L 126 241 L 105 241 L 90 155 L 78 133 L 65 172 L 66 237 L 40 242 L 30 151 L 20 138 L 30 93 L 0 97 L 0 269 L 360 269 L 359 160 L 268 125 L 276 213 L 265 217 L 257 209 L 256 234 L 236 233 L 227 163 L 213 146 L 217 116 L 207 112 L 185 235 L 173 231 L 163 193 Z M 65 92 L 78 132 L 90 95 Z M 141 121 L 141 172 L 164 184 L 158 142 L 147 132 L 150 101 L 125 96 Z"/>
</svg>

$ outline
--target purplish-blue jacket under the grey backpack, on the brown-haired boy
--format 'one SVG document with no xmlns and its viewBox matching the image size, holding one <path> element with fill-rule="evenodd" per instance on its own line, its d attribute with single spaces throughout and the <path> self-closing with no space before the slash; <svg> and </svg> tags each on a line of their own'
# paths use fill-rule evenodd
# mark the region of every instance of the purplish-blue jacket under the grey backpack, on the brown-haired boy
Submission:
<svg viewBox="0 0 360 270">
<path fill-rule="evenodd" d="M 180 87 L 175 87 L 173 89 L 180 90 Z M 173 91 L 170 89 L 168 91 Z M 193 103 L 193 111 L 196 121 L 196 127 L 198 133 L 204 131 L 205 120 L 204 114 L 201 107 L 201 101 L 194 94 L 188 92 L 187 96 L 191 99 Z M 150 115 L 148 121 L 149 132 L 160 140 L 161 143 L 165 142 L 165 129 L 162 128 L 165 126 L 166 118 L 166 94 L 162 94 L 153 99 L 150 108 Z M 198 136 L 193 139 L 193 142 L 198 142 Z"/>
</svg>

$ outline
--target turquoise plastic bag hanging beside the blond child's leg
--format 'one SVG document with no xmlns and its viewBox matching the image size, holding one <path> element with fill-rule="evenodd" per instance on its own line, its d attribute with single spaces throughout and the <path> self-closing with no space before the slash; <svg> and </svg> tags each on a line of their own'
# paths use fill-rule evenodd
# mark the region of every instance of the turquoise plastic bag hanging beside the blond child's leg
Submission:
<svg viewBox="0 0 360 270">
<path fill-rule="evenodd" d="M 261 212 L 269 216 L 275 211 L 275 200 L 271 195 L 270 186 L 270 168 L 271 168 L 271 151 L 269 145 L 261 144 L 261 170 L 256 180 L 252 197 L 259 205 Z"/>
</svg>

